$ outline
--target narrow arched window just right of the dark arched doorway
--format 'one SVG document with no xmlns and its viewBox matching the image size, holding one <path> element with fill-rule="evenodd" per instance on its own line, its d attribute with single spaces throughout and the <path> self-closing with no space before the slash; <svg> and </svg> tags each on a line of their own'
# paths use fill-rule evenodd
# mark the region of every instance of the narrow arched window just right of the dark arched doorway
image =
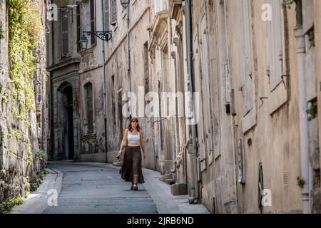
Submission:
<svg viewBox="0 0 321 228">
<path fill-rule="evenodd" d="M 86 133 L 93 133 L 93 85 L 86 83 L 85 90 L 85 103 L 86 103 Z"/>
</svg>

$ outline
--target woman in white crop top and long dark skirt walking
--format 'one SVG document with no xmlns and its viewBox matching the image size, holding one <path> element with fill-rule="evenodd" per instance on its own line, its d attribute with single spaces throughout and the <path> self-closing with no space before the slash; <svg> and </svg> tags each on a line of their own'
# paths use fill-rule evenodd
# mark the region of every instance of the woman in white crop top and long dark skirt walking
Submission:
<svg viewBox="0 0 321 228">
<path fill-rule="evenodd" d="M 131 182 L 131 190 L 138 190 L 137 184 L 143 184 L 144 177 L 141 170 L 141 150 L 143 150 L 143 159 L 146 158 L 146 145 L 143 140 L 143 131 L 139 127 L 138 119 L 131 118 L 128 128 L 123 133 L 121 141 L 121 149 L 117 157 L 121 157 L 123 146 L 125 147 L 125 155 L 123 156 L 123 165 L 119 173 L 121 178 L 126 182 Z"/>
</svg>

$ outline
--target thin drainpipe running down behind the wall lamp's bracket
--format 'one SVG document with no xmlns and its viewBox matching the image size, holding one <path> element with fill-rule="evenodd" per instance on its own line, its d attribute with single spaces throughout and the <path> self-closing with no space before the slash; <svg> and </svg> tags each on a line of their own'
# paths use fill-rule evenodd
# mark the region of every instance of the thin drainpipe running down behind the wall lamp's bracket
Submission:
<svg viewBox="0 0 321 228">
<path fill-rule="evenodd" d="M 102 26 L 103 29 L 101 31 L 105 30 L 105 12 L 103 10 L 103 0 L 101 0 L 101 19 L 102 19 Z M 106 57 L 105 57 L 105 41 L 103 41 L 103 120 L 104 120 L 104 127 L 105 127 L 105 148 L 106 148 L 106 163 L 108 163 L 108 142 L 107 142 L 107 104 L 106 104 Z"/>
</svg>

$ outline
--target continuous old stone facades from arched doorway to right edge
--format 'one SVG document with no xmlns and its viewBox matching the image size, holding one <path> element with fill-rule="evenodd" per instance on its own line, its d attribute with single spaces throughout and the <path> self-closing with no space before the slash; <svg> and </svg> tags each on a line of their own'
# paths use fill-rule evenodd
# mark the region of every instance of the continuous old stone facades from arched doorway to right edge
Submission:
<svg viewBox="0 0 321 228">
<path fill-rule="evenodd" d="M 190 203 L 213 213 L 320 212 L 319 1 L 54 3 L 79 8 L 61 14 L 68 36 L 57 21 L 47 36 L 51 159 L 113 162 L 131 114 L 145 133 L 143 166 Z M 77 47 L 83 31 L 103 29 L 110 41 Z"/>
</svg>

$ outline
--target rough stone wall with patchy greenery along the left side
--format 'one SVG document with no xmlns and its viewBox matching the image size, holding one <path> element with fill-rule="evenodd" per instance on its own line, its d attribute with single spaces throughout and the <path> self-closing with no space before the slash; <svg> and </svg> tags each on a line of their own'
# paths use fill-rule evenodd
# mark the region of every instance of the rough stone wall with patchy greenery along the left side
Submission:
<svg viewBox="0 0 321 228">
<path fill-rule="evenodd" d="M 44 38 L 46 5 L 44 1 L 38 0 L 24 2 L 21 5 L 28 4 L 29 9 L 27 14 L 22 9 L 25 12 L 23 18 L 34 16 L 34 33 L 39 33 L 39 36 L 36 36 L 38 42 L 32 51 L 33 56 L 36 57 L 32 63 L 32 68 L 35 68 L 35 72 L 32 71 L 34 74 L 23 75 L 19 72 L 14 75 L 19 77 L 19 80 L 24 80 L 22 84 L 16 83 L 14 76 L 12 76 L 14 71 L 11 66 L 14 58 L 12 46 L 16 44 L 12 37 L 17 33 L 14 28 L 11 28 L 11 24 L 18 23 L 19 27 L 23 27 L 27 22 L 24 21 L 25 24 L 22 25 L 21 21 L 14 21 L 15 19 L 9 14 L 9 11 L 16 7 L 16 14 L 20 14 L 21 9 L 12 5 L 12 1 L 0 2 L 0 204 L 6 199 L 26 197 L 31 190 L 31 185 L 39 181 L 39 173 L 46 166 L 47 75 Z M 9 31 L 9 29 L 11 30 Z M 22 32 L 26 33 L 25 27 Z M 31 30 L 28 32 L 29 35 L 32 33 Z M 24 36 L 24 38 L 26 39 L 28 36 Z M 17 46 L 15 47 L 17 48 Z M 20 50 L 21 58 L 17 61 L 18 65 L 22 66 L 26 63 L 24 56 L 21 49 L 16 50 Z M 21 71 L 26 73 L 24 69 Z M 20 93 L 16 93 L 21 89 L 16 85 L 22 85 L 23 92 L 20 90 Z M 30 97 L 27 97 L 27 94 Z"/>
</svg>

